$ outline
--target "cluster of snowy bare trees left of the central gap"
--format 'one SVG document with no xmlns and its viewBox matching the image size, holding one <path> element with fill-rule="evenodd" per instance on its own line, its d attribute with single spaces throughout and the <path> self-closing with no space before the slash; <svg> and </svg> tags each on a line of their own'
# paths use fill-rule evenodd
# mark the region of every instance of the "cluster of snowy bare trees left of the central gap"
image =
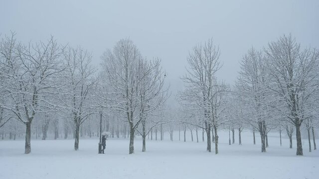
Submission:
<svg viewBox="0 0 319 179">
<path fill-rule="evenodd" d="M 83 123 L 97 114 L 111 114 L 129 125 L 130 154 L 135 131 L 142 124 L 145 151 L 146 135 L 160 123 L 154 116 L 167 99 L 160 60 L 143 58 L 129 39 L 107 50 L 102 60 L 98 71 L 91 64 L 91 53 L 81 47 L 58 45 L 53 37 L 23 44 L 14 33 L 5 36 L 0 41 L 0 127 L 9 120 L 23 123 L 25 154 L 29 154 L 34 118 L 43 124 L 44 139 L 50 120 L 65 119 L 65 135 L 71 123 L 78 150 Z"/>
</svg>

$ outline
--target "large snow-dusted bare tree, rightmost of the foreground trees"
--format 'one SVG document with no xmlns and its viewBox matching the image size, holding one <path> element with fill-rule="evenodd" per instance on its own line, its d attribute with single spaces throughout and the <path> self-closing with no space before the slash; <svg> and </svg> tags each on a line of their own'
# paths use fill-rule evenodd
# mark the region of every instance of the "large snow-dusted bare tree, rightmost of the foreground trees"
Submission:
<svg viewBox="0 0 319 179">
<path fill-rule="evenodd" d="M 301 49 L 295 38 L 284 35 L 277 42 L 269 43 L 265 53 L 271 81 L 268 88 L 284 101 L 281 107 L 288 109 L 288 121 L 296 127 L 296 154 L 303 155 L 300 126 L 312 115 L 305 111 L 305 106 L 319 89 L 318 83 L 311 83 L 318 82 L 318 50 Z"/>
</svg>

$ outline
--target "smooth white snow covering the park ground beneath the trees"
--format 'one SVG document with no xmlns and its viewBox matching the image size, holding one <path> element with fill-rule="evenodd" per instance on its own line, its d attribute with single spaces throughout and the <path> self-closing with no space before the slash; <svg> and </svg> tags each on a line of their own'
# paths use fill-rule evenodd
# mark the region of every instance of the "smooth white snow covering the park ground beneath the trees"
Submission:
<svg viewBox="0 0 319 179">
<path fill-rule="evenodd" d="M 195 133 L 195 132 L 194 132 Z M 97 154 L 97 139 L 74 141 L 31 140 L 32 153 L 23 154 L 24 141 L 0 141 L 0 179 L 319 179 L 319 151 L 308 152 L 303 139 L 304 156 L 289 149 L 289 140 L 279 134 L 269 136 L 267 153 L 261 153 L 260 137 L 252 144 L 252 133 L 243 132 L 242 146 L 228 145 L 228 132 L 220 132 L 219 154 L 206 152 L 206 142 L 147 140 L 147 152 L 141 152 L 142 140 L 135 140 L 135 154 L 128 154 L 128 139 L 109 139 L 106 154 Z M 182 140 L 182 132 L 181 132 Z"/>
</svg>

